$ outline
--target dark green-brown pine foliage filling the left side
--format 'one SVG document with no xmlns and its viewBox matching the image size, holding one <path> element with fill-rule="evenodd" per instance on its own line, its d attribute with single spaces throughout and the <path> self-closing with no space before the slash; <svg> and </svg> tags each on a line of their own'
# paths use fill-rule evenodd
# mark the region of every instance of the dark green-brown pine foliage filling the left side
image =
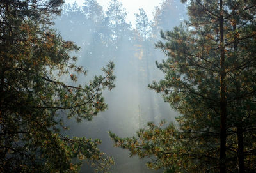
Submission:
<svg viewBox="0 0 256 173">
<path fill-rule="evenodd" d="M 103 172 L 113 164 L 100 140 L 60 133 L 67 117 L 90 121 L 105 110 L 102 90 L 115 87 L 112 62 L 89 84 L 75 84 L 86 73 L 69 55 L 79 47 L 50 29 L 61 4 L 0 2 L 0 172 L 77 172 L 84 160 Z"/>
</svg>

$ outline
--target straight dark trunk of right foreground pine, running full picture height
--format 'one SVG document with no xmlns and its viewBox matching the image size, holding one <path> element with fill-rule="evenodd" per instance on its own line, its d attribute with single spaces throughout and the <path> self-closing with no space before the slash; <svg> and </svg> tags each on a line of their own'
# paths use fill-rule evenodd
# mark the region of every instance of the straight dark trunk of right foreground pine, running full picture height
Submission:
<svg viewBox="0 0 256 173">
<path fill-rule="evenodd" d="M 221 126 L 220 126 L 220 173 L 226 172 L 226 128 L 227 128 L 227 100 L 226 100 L 226 68 L 225 68 L 225 47 L 224 47 L 224 29 L 223 29 L 223 3 L 220 0 L 220 82 L 221 82 Z"/>
</svg>

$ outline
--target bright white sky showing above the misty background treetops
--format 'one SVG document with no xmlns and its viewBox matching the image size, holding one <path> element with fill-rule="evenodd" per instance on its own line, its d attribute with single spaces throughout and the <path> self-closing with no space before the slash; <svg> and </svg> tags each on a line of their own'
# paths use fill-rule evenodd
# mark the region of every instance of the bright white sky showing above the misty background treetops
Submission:
<svg viewBox="0 0 256 173">
<path fill-rule="evenodd" d="M 74 0 L 66 0 L 67 3 L 72 3 Z M 76 0 L 77 4 L 82 5 L 86 0 Z M 148 18 L 152 20 L 155 6 L 158 6 L 163 0 L 119 0 L 123 3 L 124 8 L 127 10 L 127 21 L 135 22 L 134 13 L 139 13 L 139 8 L 144 8 L 146 11 Z M 109 0 L 97 0 L 97 2 L 104 6 L 104 10 L 106 10 L 108 6 Z"/>
</svg>

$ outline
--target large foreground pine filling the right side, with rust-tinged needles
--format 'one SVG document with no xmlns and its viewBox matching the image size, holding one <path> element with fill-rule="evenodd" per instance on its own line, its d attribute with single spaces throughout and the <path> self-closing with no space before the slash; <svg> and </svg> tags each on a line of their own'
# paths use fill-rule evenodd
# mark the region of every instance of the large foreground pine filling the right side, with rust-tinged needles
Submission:
<svg viewBox="0 0 256 173">
<path fill-rule="evenodd" d="M 179 126 L 148 123 L 115 146 L 166 172 L 256 169 L 256 1 L 191 0 L 189 21 L 161 32 L 164 79 L 150 88 L 180 113 Z"/>
</svg>

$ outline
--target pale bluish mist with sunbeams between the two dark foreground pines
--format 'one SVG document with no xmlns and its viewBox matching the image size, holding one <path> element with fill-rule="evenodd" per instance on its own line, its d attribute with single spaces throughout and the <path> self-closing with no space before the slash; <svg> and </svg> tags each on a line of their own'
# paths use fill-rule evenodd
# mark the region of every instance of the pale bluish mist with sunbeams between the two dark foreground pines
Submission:
<svg viewBox="0 0 256 173">
<path fill-rule="evenodd" d="M 116 87 L 104 92 L 108 109 L 89 122 L 67 121 L 70 131 L 65 132 L 70 136 L 101 139 L 100 149 L 115 159 L 111 172 L 157 172 L 147 169 L 145 163 L 150 158 L 130 158 L 129 151 L 113 147 L 108 131 L 132 137 L 148 121 L 175 121 L 177 113 L 148 84 L 163 78 L 155 64 L 165 58 L 163 52 L 154 48 L 161 40 L 159 33 L 161 29 L 166 31 L 179 25 L 186 18 L 185 9 L 179 1 L 163 1 L 156 7 L 153 21 L 140 10 L 134 21 L 136 27 L 132 27 L 126 22 L 127 11 L 119 1 L 110 1 L 107 8 L 102 8 L 97 1 L 88 0 L 83 6 L 65 4 L 62 15 L 54 21 L 54 28 L 65 40 L 81 47 L 79 52 L 72 53 L 78 57 L 77 64 L 88 70 L 85 79 L 79 77 L 79 83 L 101 74 L 100 69 L 109 61 L 115 63 Z M 84 165 L 81 172 L 92 169 Z"/>
</svg>

